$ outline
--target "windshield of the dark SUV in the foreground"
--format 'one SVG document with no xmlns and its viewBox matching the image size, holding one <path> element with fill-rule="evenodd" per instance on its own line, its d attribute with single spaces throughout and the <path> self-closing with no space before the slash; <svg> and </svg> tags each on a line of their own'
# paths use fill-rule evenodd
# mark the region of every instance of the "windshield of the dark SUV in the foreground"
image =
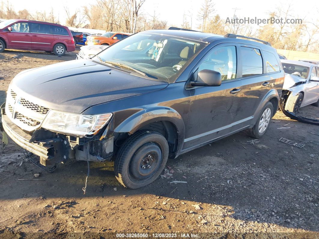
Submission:
<svg viewBox="0 0 319 239">
<path fill-rule="evenodd" d="M 118 41 L 98 57 L 116 67 L 143 72 L 144 77 L 171 83 L 207 44 L 163 34 L 138 33 Z"/>
</svg>

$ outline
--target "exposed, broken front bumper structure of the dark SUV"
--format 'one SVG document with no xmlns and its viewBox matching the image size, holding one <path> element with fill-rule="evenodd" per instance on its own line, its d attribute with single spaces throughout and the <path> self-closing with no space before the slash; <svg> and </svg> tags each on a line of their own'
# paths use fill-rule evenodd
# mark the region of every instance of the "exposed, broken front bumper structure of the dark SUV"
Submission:
<svg viewBox="0 0 319 239">
<path fill-rule="evenodd" d="M 1 131 L 18 146 L 40 156 L 40 164 L 47 166 L 69 159 L 84 161 L 107 161 L 113 155 L 113 139 L 109 123 L 102 135 L 91 138 L 63 135 L 45 129 L 37 129 L 32 135 L 20 129 L 2 109 Z"/>
</svg>

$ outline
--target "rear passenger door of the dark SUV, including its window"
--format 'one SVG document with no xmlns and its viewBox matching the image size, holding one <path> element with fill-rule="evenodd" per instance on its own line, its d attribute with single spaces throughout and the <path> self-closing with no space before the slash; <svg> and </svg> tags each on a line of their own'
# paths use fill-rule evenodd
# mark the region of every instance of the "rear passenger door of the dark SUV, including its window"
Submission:
<svg viewBox="0 0 319 239">
<path fill-rule="evenodd" d="M 271 66 L 263 60 L 261 49 L 254 45 L 238 44 L 242 91 L 238 93 L 238 108 L 231 131 L 237 131 L 254 123 L 258 106 L 274 84 L 276 76 L 270 77 L 267 69 Z M 268 54 L 268 53 L 267 53 Z M 279 63 L 272 63 L 280 70 Z M 266 69 L 267 68 L 267 69 Z M 272 68 L 271 68 L 272 69 Z"/>
</svg>

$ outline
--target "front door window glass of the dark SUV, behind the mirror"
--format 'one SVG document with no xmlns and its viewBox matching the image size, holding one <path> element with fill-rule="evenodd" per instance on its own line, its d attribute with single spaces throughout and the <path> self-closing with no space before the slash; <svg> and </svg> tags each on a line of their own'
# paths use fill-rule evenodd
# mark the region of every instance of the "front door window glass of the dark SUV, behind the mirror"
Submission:
<svg viewBox="0 0 319 239">
<path fill-rule="evenodd" d="M 211 49 L 204 61 L 200 64 L 198 72 L 204 69 L 218 71 L 222 80 L 236 78 L 236 47 L 227 46 L 218 49 Z"/>
</svg>

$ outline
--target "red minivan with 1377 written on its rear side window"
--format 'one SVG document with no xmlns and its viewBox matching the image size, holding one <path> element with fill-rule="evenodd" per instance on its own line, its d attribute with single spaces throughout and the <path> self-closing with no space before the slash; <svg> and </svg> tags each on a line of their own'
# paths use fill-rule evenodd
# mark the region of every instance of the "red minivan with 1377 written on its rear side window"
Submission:
<svg viewBox="0 0 319 239">
<path fill-rule="evenodd" d="M 60 24 L 10 19 L 0 23 L 0 52 L 4 49 L 38 50 L 63 56 L 74 51 L 73 36 Z"/>
</svg>

